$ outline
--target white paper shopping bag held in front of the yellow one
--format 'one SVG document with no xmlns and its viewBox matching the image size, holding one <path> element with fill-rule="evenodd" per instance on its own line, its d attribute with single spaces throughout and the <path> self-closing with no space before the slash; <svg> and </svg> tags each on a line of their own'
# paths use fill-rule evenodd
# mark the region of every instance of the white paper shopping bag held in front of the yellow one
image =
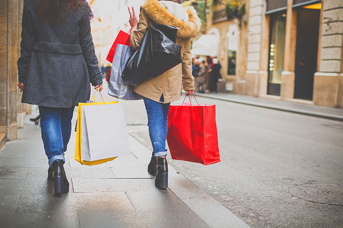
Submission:
<svg viewBox="0 0 343 228">
<path fill-rule="evenodd" d="M 121 103 L 82 107 L 82 160 L 94 161 L 130 153 Z"/>
</svg>

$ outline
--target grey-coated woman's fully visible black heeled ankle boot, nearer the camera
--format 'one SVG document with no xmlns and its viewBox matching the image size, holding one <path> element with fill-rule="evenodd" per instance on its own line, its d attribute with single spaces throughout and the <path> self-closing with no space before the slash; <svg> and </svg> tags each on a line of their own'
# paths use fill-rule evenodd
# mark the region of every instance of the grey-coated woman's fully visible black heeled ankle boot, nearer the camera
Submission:
<svg viewBox="0 0 343 228">
<path fill-rule="evenodd" d="M 52 165 L 55 194 L 69 192 L 69 182 L 63 164 L 63 160 L 55 160 Z"/>
</svg>

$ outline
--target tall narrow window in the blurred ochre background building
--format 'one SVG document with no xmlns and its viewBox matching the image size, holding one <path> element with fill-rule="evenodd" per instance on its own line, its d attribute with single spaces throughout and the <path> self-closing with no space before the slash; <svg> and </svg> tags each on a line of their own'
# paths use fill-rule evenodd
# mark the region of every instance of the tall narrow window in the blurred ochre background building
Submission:
<svg viewBox="0 0 343 228">
<path fill-rule="evenodd" d="M 229 75 L 236 75 L 236 56 L 238 49 L 239 30 L 237 24 L 229 26 L 228 36 L 228 72 Z"/>
</svg>

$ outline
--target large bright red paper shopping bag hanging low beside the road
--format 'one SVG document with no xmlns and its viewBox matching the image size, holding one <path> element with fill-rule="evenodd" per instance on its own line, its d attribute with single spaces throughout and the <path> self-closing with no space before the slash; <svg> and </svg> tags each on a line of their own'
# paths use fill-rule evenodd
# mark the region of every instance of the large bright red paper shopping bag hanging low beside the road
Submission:
<svg viewBox="0 0 343 228">
<path fill-rule="evenodd" d="M 211 104 L 170 105 L 167 142 L 171 158 L 205 165 L 220 161 L 216 106 Z M 187 96 L 186 96 L 187 97 Z M 185 99 L 186 99 L 185 97 Z"/>
</svg>

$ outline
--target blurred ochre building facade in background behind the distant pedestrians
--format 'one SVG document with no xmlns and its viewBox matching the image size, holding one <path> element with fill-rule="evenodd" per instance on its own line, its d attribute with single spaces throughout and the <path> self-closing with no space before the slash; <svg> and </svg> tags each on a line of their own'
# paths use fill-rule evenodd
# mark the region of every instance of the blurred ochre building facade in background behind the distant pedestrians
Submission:
<svg viewBox="0 0 343 228">
<path fill-rule="evenodd" d="M 214 45 L 217 42 L 212 42 L 211 48 L 218 49 L 218 51 L 214 51 L 216 54 L 211 54 L 212 56 L 207 55 L 207 60 L 210 63 L 211 57 L 217 57 L 222 65 L 223 81 L 219 82 L 219 91 L 244 93 L 246 89 L 248 16 L 246 13 L 242 17 L 228 17 L 226 12 L 228 2 L 230 1 L 206 0 L 206 21 L 203 21 L 202 31 L 205 35 L 212 35 L 219 40 L 218 46 Z M 247 7 L 249 4 L 248 0 L 238 0 L 237 2 L 240 6 L 246 4 Z M 194 46 L 196 44 L 197 40 Z M 192 51 L 194 52 L 194 50 Z"/>
</svg>

